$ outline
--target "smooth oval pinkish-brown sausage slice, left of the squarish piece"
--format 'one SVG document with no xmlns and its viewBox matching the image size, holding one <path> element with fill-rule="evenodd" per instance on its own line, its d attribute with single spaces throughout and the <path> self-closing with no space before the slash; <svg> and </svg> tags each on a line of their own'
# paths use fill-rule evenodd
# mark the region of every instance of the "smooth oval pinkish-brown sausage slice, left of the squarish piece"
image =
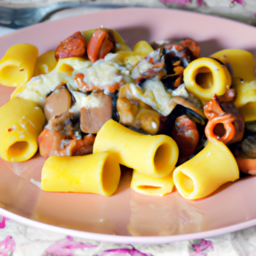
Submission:
<svg viewBox="0 0 256 256">
<path fill-rule="evenodd" d="M 55 89 L 44 103 L 44 115 L 47 121 L 55 115 L 59 115 L 70 108 L 71 95 L 65 87 Z"/>
</svg>

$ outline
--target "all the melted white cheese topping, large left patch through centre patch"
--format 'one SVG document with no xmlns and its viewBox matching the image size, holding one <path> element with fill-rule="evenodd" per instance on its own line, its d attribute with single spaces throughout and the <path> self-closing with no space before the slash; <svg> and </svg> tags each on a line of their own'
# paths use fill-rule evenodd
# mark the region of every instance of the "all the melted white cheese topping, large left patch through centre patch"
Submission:
<svg viewBox="0 0 256 256">
<path fill-rule="evenodd" d="M 145 68 L 148 69 L 148 64 L 151 63 L 144 62 Z M 142 66 L 143 63 L 140 64 L 140 69 Z M 173 109 L 171 92 L 164 88 L 157 76 L 147 79 L 142 86 L 135 85 L 130 68 L 122 64 L 118 53 L 108 53 L 104 59 L 94 63 L 80 57 L 59 59 L 51 72 L 32 77 L 26 84 L 18 86 L 11 98 L 21 97 L 32 100 L 43 109 L 49 93 L 57 86 L 66 84 L 75 101 L 69 111 L 76 113 L 81 107 L 96 107 L 99 104 L 96 98 L 83 93 L 86 90 L 100 89 L 109 93 L 109 86 L 115 84 L 121 86 L 128 82 L 134 97 L 162 115 L 168 115 Z M 78 74 L 81 74 L 79 78 L 77 78 Z"/>
</svg>

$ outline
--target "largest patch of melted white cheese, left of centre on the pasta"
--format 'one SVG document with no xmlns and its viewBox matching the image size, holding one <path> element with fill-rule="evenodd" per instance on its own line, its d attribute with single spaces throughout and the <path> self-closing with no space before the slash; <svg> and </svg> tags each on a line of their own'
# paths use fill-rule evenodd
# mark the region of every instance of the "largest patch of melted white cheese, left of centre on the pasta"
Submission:
<svg viewBox="0 0 256 256">
<path fill-rule="evenodd" d="M 48 94 L 60 84 L 65 83 L 75 100 L 70 109 L 71 112 L 79 112 L 81 107 L 98 106 L 99 100 L 82 92 L 83 88 L 79 87 L 75 79 L 78 73 L 84 75 L 84 84 L 96 86 L 107 93 L 108 86 L 121 82 L 123 75 L 127 75 L 127 70 L 119 63 L 111 61 L 111 56 L 99 59 L 93 64 L 79 57 L 63 58 L 59 59 L 51 72 L 34 76 L 26 84 L 18 86 L 11 98 L 21 97 L 32 100 L 43 109 Z"/>
</svg>

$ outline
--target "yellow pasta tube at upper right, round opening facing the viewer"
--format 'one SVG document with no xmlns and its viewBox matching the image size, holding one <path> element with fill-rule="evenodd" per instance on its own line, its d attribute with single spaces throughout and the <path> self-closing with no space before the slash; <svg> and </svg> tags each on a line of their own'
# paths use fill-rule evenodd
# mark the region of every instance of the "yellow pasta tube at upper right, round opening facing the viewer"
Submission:
<svg viewBox="0 0 256 256">
<path fill-rule="evenodd" d="M 186 89 L 202 102 L 209 101 L 215 94 L 222 95 L 231 84 L 227 67 L 213 58 L 197 58 L 184 69 Z"/>
</svg>

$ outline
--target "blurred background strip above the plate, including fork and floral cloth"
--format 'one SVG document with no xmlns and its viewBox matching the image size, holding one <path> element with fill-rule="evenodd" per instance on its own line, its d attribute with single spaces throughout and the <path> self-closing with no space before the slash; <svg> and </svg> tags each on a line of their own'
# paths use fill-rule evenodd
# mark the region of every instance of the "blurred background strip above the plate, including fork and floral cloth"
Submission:
<svg viewBox="0 0 256 256">
<path fill-rule="evenodd" d="M 134 6 L 185 9 L 256 24 L 256 0 L 0 0 L 0 26 L 16 29 L 45 20 Z"/>
</svg>

